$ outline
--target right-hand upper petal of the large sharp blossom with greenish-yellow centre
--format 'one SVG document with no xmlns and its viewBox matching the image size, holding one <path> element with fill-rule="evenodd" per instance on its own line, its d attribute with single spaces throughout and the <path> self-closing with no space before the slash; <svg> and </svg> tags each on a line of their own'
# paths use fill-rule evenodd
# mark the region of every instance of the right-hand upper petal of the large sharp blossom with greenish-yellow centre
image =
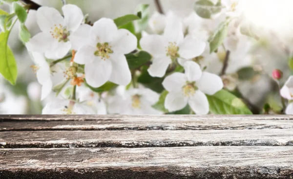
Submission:
<svg viewBox="0 0 293 179">
<path fill-rule="evenodd" d="M 115 53 L 127 54 L 136 49 L 136 37 L 126 29 L 119 29 L 118 35 L 111 43 L 112 49 Z"/>
</svg>

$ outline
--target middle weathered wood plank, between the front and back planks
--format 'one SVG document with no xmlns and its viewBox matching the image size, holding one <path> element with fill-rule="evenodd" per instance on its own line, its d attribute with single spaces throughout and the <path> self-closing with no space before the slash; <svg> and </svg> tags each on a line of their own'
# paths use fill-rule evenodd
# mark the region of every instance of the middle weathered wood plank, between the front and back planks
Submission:
<svg viewBox="0 0 293 179">
<path fill-rule="evenodd" d="M 1 132 L 2 148 L 293 146 L 292 129 Z"/>
</svg>

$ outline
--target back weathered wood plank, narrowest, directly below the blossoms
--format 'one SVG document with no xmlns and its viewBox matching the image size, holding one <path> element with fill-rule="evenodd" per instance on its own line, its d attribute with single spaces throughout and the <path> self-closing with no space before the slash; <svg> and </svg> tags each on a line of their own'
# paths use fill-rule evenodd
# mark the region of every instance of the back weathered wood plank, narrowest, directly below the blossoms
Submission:
<svg viewBox="0 0 293 179">
<path fill-rule="evenodd" d="M 292 116 L 3 117 L 0 131 L 292 129 Z M 64 119 L 64 120 L 57 120 Z M 75 120 L 76 119 L 76 120 Z M 89 120 L 90 119 L 90 120 Z"/>
</svg>

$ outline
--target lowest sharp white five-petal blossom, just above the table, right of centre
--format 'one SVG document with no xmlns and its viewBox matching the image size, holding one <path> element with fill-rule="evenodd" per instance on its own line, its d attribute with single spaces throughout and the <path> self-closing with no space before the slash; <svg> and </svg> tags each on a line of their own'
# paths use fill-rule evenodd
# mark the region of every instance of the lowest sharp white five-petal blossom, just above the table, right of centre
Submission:
<svg viewBox="0 0 293 179">
<path fill-rule="evenodd" d="M 221 78 L 209 72 L 202 72 L 199 65 L 188 61 L 185 73 L 175 72 L 165 78 L 164 88 L 169 92 L 165 108 L 169 112 L 183 109 L 187 104 L 196 114 L 209 113 L 209 101 L 205 94 L 213 95 L 223 88 Z"/>
</svg>

